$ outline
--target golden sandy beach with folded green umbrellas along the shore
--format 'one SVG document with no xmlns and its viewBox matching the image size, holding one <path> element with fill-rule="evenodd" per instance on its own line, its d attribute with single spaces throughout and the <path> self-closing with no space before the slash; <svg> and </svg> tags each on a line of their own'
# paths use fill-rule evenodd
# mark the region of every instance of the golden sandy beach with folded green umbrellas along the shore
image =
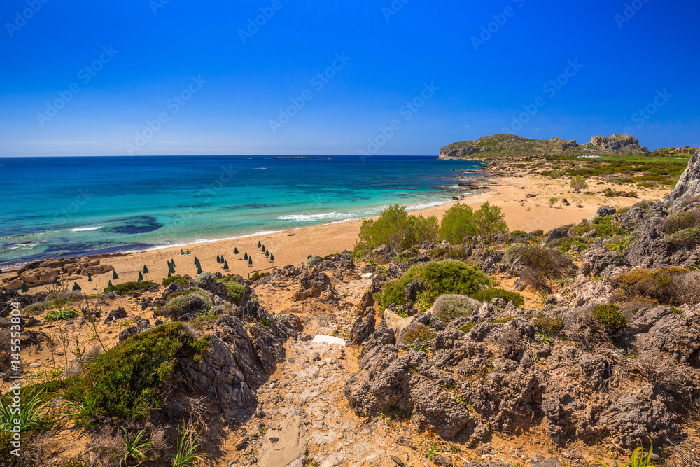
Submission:
<svg viewBox="0 0 700 467">
<path fill-rule="evenodd" d="M 579 223 L 583 219 L 590 218 L 596 213 L 598 206 L 603 204 L 618 206 L 631 205 L 643 199 L 660 199 L 664 196 L 663 190 L 640 190 L 639 198 L 600 197 L 573 193 L 568 186 L 568 181 L 563 179 L 545 179 L 542 177 L 527 176 L 525 172 L 509 174 L 489 179 L 490 186 L 463 200 L 451 201 L 437 207 L 430 207 L 419 211 L 412 211 L 413 215 L 436 216 L 442 219 L 445 211 L 456 202 L 469 204 L 478 209 L 484 202 L 498 205 L 503 209 L 505 220 L 510 230 L 551 230 L 561 225 Z M 605 186 L 598 186 L 604 189 Z M 550 206 L 550 199 L 558 197 L 559 200 Z M 566 199 L 568 205 L 561 203 Z M 274 266 L 297 265 L 311 255 L 325 256 L 330 253 L 339 253 L 345 249 L 352 249 L 358 239 L 362 220 L 346 221 L 316 225 L 307 228 L 287 230 L 283 232 L 251 235 L 234 239 L 223 239 L 189 247 L 176 246 L 170 248 L 153 249 L 129 253 L 122 256 L 108 256 L 102 259 L 102 263 L 111 264 L 119 275 L 119 282 L 136 281 L 139 271 L 144 265 L 148 267 L 149 274 L 145 279 L 160 282 L 167 277 L 167 262 L 174 260 L 176 274 L 196 274 L 194 257 L 202 263 L 202 270 L 211 272 L 230 272 L 248 277 L 257 271 L 269 270 Z M 258 242 L 265 245 L 274 255 L 275 262 L 270 263 L 265 255 L 260 253 Z M 189 248 L 191 256 L 181 256 L 181 249 Z M 239 255 L 235 255 L 235 249 Z M 248 265 L 243 260 L 244 253 L 253 258 L 253 265 Z M 223 255 L 228 261 L 228 271 L 223 270 L 223 265 L 216 262 L 216 256 Z M 13 274 L 3 272 L 0 278 L 10 277 Z M 101 291 L 107 286 L 112 274 L 106 273 L 94 276 L 92 284 L 87 278 L 81 278 L 76 282 L 85 291 Z M 41 286 L 38 290 L 43 290 Z"/>
</svg>

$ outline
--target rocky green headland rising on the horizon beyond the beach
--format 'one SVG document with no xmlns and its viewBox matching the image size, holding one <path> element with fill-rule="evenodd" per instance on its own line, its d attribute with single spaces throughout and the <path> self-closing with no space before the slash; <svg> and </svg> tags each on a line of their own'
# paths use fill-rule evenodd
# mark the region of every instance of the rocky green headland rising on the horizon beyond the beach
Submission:
<svg viewBox="0 0 700 467">
<path fill-rule="evenodd" d="M 678 153 L 686 148 L 679 149 Z M 668 151 L 668 150 L 663 150 Z M 566 139 L 530 139 L 513 134 L 494 134 L 474 141 L 461 141 L 444 146 L 440 159 L 521 157 L 527 155 L 606 155 L 650 154 L 646 146 L 629 134 L 613 134 L 611 137 L 592 137 L 589 143 L 578 144 Z M 692 154 L 692 152 L 690 152 Z"/>
</svg>

